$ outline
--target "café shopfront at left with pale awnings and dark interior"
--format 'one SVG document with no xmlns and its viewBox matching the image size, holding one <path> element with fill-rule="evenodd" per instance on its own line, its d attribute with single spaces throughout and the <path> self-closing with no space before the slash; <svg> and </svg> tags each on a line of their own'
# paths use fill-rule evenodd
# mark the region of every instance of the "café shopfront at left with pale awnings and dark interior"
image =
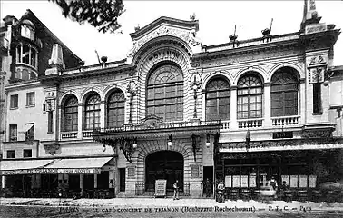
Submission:
<svg viewBox="0 0 343 218">
<path fill-rule="evenodd" d="M 114 197 L 113 157 L 10 160 L 1 164 L 5 196 Z"/>
</svg>

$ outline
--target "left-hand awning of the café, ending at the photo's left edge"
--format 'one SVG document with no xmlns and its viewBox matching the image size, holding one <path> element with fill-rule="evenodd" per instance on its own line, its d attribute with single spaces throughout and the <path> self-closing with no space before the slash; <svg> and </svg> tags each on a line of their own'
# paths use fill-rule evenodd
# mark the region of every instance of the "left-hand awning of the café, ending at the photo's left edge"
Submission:
<svg viewBox="0 0 343 218">
<path fill-rule="evenodd" d="M 28 174 L 34 169 L 43 168 L 54 160 L 10 160 L 0 162 L 1 174 Z"/>
</svg>

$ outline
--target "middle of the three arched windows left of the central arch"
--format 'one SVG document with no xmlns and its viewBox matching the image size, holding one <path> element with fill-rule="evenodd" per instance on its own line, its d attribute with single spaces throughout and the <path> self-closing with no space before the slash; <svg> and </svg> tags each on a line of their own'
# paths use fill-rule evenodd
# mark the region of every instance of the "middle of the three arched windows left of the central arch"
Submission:
<svg viewBox="0 0 343 218">
<path fill-rule="evenodd" d="M 100 127 L 100 96 L 90 94 L 84 105 L 84 129 L 92 130 Z"/>
</svg>

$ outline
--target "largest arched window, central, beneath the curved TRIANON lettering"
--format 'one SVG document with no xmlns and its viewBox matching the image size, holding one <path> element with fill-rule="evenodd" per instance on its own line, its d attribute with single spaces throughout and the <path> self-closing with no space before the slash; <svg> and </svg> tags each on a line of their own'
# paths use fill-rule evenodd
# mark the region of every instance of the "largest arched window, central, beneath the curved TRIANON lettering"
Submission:
<svg viewBox="0 0 343 218">
<path fill-rule="evenodd" d="M 156 68 L 148 79 L 147 114 L 155 114 L 165 122 L 183 120 L 183 76 L 172 64 Z"/>
</svg>

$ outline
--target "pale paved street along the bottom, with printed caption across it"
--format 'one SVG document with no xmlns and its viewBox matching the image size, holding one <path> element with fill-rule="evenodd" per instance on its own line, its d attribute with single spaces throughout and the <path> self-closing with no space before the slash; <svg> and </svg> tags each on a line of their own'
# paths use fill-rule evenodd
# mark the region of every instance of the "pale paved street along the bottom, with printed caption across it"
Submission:
<svg viewBox="0 0 343 218">
<path fill-rule="evenodd" d="M 0 217 L 342 217 L 343 203 L 1 198 Z"/>
</svg>

